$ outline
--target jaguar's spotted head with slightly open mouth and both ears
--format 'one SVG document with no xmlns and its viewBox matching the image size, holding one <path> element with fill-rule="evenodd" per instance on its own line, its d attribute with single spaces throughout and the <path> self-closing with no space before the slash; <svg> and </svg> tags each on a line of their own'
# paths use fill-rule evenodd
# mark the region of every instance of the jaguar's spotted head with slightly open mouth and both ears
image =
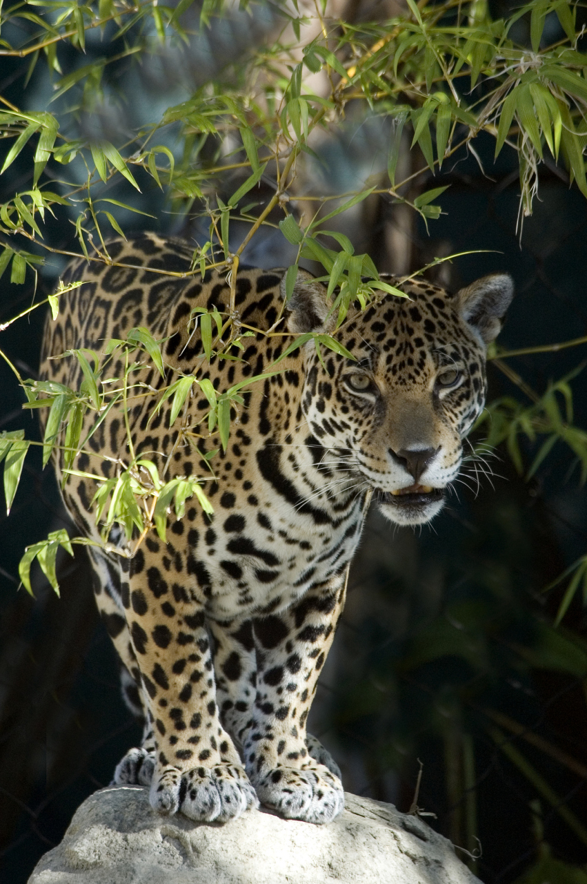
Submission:
<svg viewBox="0 0 587 884">
<path fill-rule="evenodd" d="M 354 355 L 322 347 L 320 360 L 314 342 L 305 344 L 305 417 L 391 522 L 416 525 L 440 512 L 461 468 L 463 440 L 485 404 L 486 347 L 513 284 L 503 274 L 456 293 L 394 283 L 406 298 L 386 294 L 351 309 L 336 329 L 325 287 L 300 271 L 289 330 L 326 332 Z"/>
</svg>

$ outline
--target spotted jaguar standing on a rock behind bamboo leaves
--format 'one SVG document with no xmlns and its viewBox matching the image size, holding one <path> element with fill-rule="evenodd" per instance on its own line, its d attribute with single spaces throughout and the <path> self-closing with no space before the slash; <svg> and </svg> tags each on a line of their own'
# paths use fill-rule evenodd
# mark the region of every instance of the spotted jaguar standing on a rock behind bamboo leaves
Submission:
<svg viewBox="0 0 587 884">
<path fill-rule="evenodd" d="M 512 281 L 496 274 L 448 293 L 395 279 L 406 297 L 380 293 L 336 328 L 327 288 L 307 271 L 291 292 L 284 270 L 201 278 L 189 243 L 151 232 L 114 240 L 108 253 L 107 263 L 82 258 L 65 272 L 64 283 L 83 285 L 48 316 L 41 379 L 79 390 L 71 351 L 100 353 L 139 327 L 162 347 L 165 377 L 137 349 L 140 394 L 97 426 L 84 418 L 89 438 L 75 469 L 64 474 L 55 456 L 65 506 L 95 541 L 95 597 L 125 697 L 144 720 L 142 745 L 114 781 L 148 786 L 162 814 L 223 822 L 261 803 L 327 823 L 344 805 L 340 771 L 306 721 L 367 508 L 374 497 L 397 525 L 439 513 L 484 408 L 486 347 Z M 248 330 L 236 359 L 207 358 L 198 309 L 232 309 L 234 327 Z M 340 352 L 319 353 L 314 337 L 290 350 L 306 332 L 333 336 Z M 117 352 L 104 384 L 124 374 Z M 267 375 L 233 403 L 226 450 L 216 430 L 202 430 L 203 384 L 169 426 L 162 391 L 192 374 L 219 393 Z M 150 530 L 139 544 L 132 538 L 130 555 L 122 531 L 101 541 L 92 501 L 104 477 L 141 458 L 166 479 L 201 476 L 214 511 L 188 499 L 182 517 L 170 512 L 165 542 Z"/>
</svg>

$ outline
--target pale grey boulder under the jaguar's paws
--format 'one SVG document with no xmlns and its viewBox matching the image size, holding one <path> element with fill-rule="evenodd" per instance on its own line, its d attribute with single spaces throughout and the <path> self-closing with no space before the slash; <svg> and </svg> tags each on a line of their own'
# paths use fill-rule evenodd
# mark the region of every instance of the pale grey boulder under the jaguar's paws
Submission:
<svg viewBox="0 0 587 884">
<path fill-rule="evenodd" d="M 475 884 L 425 822 L 356 795 L 329 826 L 249 811 L 226 825 L 158 816 L 147 789 L 87 798 L 28 884 Z"/>
</svg>

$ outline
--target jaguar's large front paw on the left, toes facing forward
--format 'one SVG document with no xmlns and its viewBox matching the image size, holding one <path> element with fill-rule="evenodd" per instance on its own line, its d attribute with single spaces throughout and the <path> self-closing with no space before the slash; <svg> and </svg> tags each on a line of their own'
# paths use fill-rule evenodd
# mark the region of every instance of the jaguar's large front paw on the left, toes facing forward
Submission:
<svg viewBox="0 0 587 884">
<path fill-rule="evenodd" d="M 149 800 L 159 813 L 181 811 L 198 822 L 226 822 L 251 807 L 259 807 L 243 768 L 229 764 L 189 771 L 163 767 L 154 775 Z"/>
</svg>

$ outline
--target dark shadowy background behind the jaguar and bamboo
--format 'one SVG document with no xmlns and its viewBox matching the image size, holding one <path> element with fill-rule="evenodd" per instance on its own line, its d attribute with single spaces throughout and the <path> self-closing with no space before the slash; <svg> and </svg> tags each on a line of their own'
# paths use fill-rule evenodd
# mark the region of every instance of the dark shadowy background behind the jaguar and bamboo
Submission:
<svg viewBox="0 0 587 884">
<path fill-rule="evenodd" d="M 220 69 L 227 52 L 234 56 L 260 39 L 270 27 L 264 15 L 213 25 L 192 45 L 185 65 L 174 64 L 170 55 L 142 68 L 130 61 L 112 65 L 105 82 L 109 101 L 92 114 L 72 113 L 68 134 L 114 141 L 113 133 L 131 131 L 145 115 L 156 116 L 154 106 L 176 103 L 199 84 L 202 59 L 210 76 L 211 65 Z M 115 51 L 107 43 L 89 43 L 83 63 Z M 74 50 L 64 51 L 64 71 L 67 64 L 79 64 Z M 0 91 L 19 106 L 40 107 L 49 95 L 46 76 L 34 72 L 23 92 L 26 68 L 27 63 L 4 59 Z M 318 150 L 322 164 L 312 174 L 323 192 L 359 186 L 378 164 L 384 167 L 387 140 L 377 118 L 359 117 L 350 108 L 345 126 Z M 485 175 L 463 153 L 434 179 L 427 173 L 418 181 L 421 190 L 450 185 L 440 199 L 445 214 L 429 224 L 429 235 L 424 225 L 406 225 L 398 210 L 375 197 L 341 222 L 341 229 L 382 271 L 395 270 L 399 259 L 415 270 L 434 255 L 489 249 L 440 265 L 434 276 L 459 287 L 488 272 L 512 274 L 516 299 L 502 347 L 587 334 L 583 196 L 568 188 L 564 171 L 542 166 L 539 201 L 520 235 L 516 156 L 504 149 L 493 164 L 489 139 L 479 139 L 477 149 Z M 408 160 L 422 165 L 417 156 Z M 30 161 L 25 150 L 11 167 L 11 192 L 27 187 Z M 64 169 L 75 173 L 73 166 L 48 168 L 60 177 Z M 125 184 L 109 195 L 155 217 L 121 212 L 125 232 L 148 227 L 202 236 L 205 219 L 171 213 L 152 181 L 138 179 L 142 196 Z M 232 193 L 235 180 L 219 182 L 219 193 Z M 46 241 L 78 250 L 73 232 L 63 212 L 47 225 Z M 390 247 L 397 241 L 394 232 L 403 238 L 403 255 Z M 245 258 L 283 265 L 289 248 L 280 234 L 261 231 Z M 49 261 L 37 297 L 49 293 L 63 271 L 59 255 Z M 11 286 L 7 276 L 0 323 L 33 296 L 32 277 L 25 286 Z M 34 311 L 2 333 L 1 346 L 24 377 L 34 377 L 37 369 L 42 321 L 41 311 Z M 582 366 L 585 354 L 577 347 L 516 357 L 508 365 L 542 395 L 549 380 Z M 499 369 L 490 365 L 488 372 L 490 400 L 508 395 L 531 405 Z M 579 373 L 572 381 L 575 423 L 581 427 L 587 423 L 585 377 Z M 36 415 L 21 410 L 24 396 L 4 363 L 0 390 L 0 430 L 25 427 L 26 438 L 39 438 Z M 537 445 L 523 443 L 526 469 Z M 531 481 L 517 475 L 503 446 L 488 462 L 491 481 L 482 476 L 480 490 L 474 479 L 467 480 L 469 488 L 457 485 L 458 498 L 421 531 L 394 530 L 376 510 L 370 515 L 310 730 L 340 761 L 346 789 L 393 802 L 404 812 L 414 798 L 420 759 L 418 805 L 436 814 L 426 821 L 475 851 L 469 862 L 481 880 L 507 884 L 548 854 L 568 865 L 587 863 L 584 835 L 560 812 L 566 808 L 583 826 L 587 820 L 585 614 L 577 594 L 561 628 L 553 630 L 567 583 L 545 592 L 585 552 L 587 507 L 576 458 L 562 442 Z M 49 530 L 71 528 L 54 476 L 49 468 L 41 470 L 38 449 L 27 455 L 10 517 L 2 514 L 0 520 L 0 874 L 20 884 L 41 854 L 59 842 L 79 803 L 109 783 L 117 760 L 139 742 L 140 732 L 120 697 L 116 655 L 98 621 L 85 553 L 60 558 L 61 598 L 36 566 L 35 598 L 18 589 L 24 547 Z M 556 806 L 546 800 L 541 782 L 558 796 Z M 562 865 L 557 868 L 559 877 L 552 880 L 567 880 Z"/>
</svg>

